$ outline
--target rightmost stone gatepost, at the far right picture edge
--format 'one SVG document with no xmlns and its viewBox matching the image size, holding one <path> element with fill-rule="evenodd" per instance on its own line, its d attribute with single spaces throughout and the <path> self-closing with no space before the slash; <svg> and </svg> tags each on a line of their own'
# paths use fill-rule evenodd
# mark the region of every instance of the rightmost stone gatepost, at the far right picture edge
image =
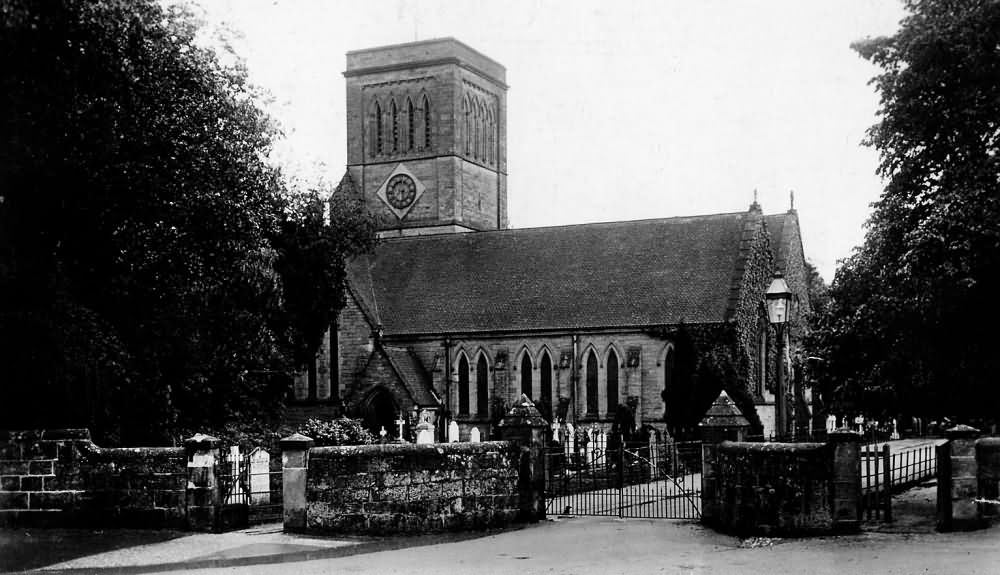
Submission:
<svg viewBox="0 0 1000 575">
<path fill-rule="evenodd" d="M 976 439 L 979 430 L 957 425 L 944 432 L 948 443 L 938 450 L 938 530 L 983 526 L 976 496 L 979 487 Z"/>
</svg>

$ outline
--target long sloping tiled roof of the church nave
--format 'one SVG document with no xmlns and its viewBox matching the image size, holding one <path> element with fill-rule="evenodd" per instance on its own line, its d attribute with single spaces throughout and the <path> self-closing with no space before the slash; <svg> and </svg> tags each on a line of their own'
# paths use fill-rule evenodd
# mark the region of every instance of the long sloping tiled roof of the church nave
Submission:
<svg viewBox="0 0 1000 575">
<path fill-rule="evenodd" d="M 390 336 L 719 323 L 748 217 L 388 239 L 350 282 Z"/>
</svg>

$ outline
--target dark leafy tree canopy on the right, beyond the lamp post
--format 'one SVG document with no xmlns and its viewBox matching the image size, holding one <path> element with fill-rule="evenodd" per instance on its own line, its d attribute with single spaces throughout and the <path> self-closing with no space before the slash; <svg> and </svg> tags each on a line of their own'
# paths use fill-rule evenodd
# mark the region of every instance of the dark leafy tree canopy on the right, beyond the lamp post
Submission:
<svg viewBox="0 0 1000 575">
<path fill-rule="evenodd" d="M 1000 3 L 907 0 L 854 48 L 881 72 L 866 144 L 886 187 L 820 334 L 844 405 L 992 416 L 1000 399 Z"/>
</svg>

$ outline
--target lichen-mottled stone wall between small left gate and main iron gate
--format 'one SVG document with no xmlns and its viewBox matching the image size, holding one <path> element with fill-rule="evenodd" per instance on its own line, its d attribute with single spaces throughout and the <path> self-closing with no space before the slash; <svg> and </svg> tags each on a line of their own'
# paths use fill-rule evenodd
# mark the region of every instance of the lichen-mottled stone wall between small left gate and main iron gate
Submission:
<svg viewBox="0 0 1000 575">
<path fill-rule="evenodd" d="M 497 527 L 518 514 L 510 442 L 309 450 L 307 531 L 389 534 Z"/>
</svg>

